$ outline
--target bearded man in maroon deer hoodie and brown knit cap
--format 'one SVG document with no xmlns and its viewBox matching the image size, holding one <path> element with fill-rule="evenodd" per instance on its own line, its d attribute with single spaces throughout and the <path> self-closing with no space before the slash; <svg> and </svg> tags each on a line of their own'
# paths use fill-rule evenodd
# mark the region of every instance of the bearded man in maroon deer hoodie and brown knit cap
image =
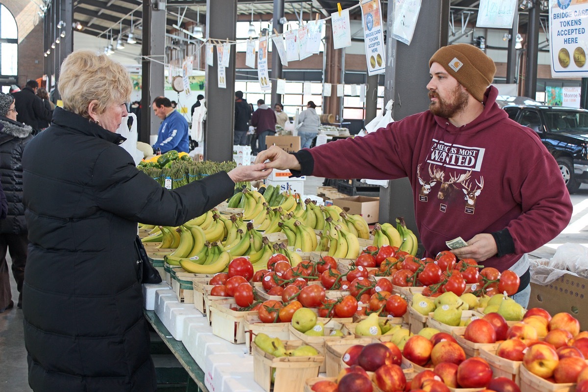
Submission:
<svg viewBox="0 0 588 392">
<path fill-rule="evenodd" d="M 453 250 L 520 277 L 515 300 L 529 301 L 529 259 L 570 221 L 572 203 L 556 161 L 529 128 L 510 120 L 490 86 L 492 59 L 466 43 L 445 46 L 429 61 L 429 110 L 363 138 L 288 154 L 258 154 L 268 167 L 327 178 L 408 177 L 425 256 Z M 296 171 L 298 170 L 298 171 Z"/>
</svg>

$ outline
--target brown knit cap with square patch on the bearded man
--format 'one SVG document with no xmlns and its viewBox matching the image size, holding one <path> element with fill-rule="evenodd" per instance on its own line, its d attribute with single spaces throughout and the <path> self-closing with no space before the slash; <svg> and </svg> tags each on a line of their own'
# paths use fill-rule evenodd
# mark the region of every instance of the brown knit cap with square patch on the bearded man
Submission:
<svg viewBox="0 0 588 392">
<path fill-rule="evenodd" d="M 474 98 L 483 102 L 484 93 L 496 73 L 494 61 L 486 53 L 469 43 L 457 43 L 436 51 L 429 60 L 429 68 L 434 62 L 445 68 Z"/>
</svg>

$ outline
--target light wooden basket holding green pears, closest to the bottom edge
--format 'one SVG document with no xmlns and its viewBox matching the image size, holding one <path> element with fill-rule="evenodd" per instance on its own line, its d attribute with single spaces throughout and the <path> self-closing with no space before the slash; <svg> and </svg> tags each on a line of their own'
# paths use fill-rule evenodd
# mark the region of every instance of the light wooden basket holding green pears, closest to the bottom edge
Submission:
<svg viewBox="0 0 588 392">
<path fill-rule="evenodd" d="M 286 350 L 302 346 L 302 341 L 285 341 Z M 275 371 L 273 390 L 303 392 L 308 378 L 319 375 L 320 364 L 325 361 L 322 355 L 313 357 L 274 357 L 251 343 L 253 353 L 253 379 L 266 392 L 272 389 L 272 373 Z"/>
</svg>

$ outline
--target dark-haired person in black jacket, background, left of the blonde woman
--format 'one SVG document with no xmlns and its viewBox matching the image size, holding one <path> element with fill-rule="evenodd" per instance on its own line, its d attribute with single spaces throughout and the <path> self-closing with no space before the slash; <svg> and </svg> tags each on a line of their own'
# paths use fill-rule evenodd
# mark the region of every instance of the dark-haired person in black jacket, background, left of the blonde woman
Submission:
<svg viewBox="0 0 588 392">
<path fill-rule="evenodd" d="M 36 81 L 26 82 L 26 86 L 18 92 L 12 93 L 16 101 L 16 121 L 30 125 L 34 132 L 41 130 L 39 121 L 51 122 L 52 110 L 47 110 L 43 100 L 36 96 L 39 83 Z"/>
</svg>

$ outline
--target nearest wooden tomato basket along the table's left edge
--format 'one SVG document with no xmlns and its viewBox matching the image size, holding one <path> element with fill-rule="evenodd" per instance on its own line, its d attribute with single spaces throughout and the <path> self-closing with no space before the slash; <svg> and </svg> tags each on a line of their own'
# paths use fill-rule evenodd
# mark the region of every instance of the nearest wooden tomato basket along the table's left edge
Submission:
<svg viewBox="0 0 588 392">
<path fill-rule="evenodd" d="M 245 316 L 258 314 L 258 311 L 237 311 L 230 307 L 234 298 L 213 300 L 211 302 L 212 333 L 230 343 L 245 343 Z"/>
</svg>

